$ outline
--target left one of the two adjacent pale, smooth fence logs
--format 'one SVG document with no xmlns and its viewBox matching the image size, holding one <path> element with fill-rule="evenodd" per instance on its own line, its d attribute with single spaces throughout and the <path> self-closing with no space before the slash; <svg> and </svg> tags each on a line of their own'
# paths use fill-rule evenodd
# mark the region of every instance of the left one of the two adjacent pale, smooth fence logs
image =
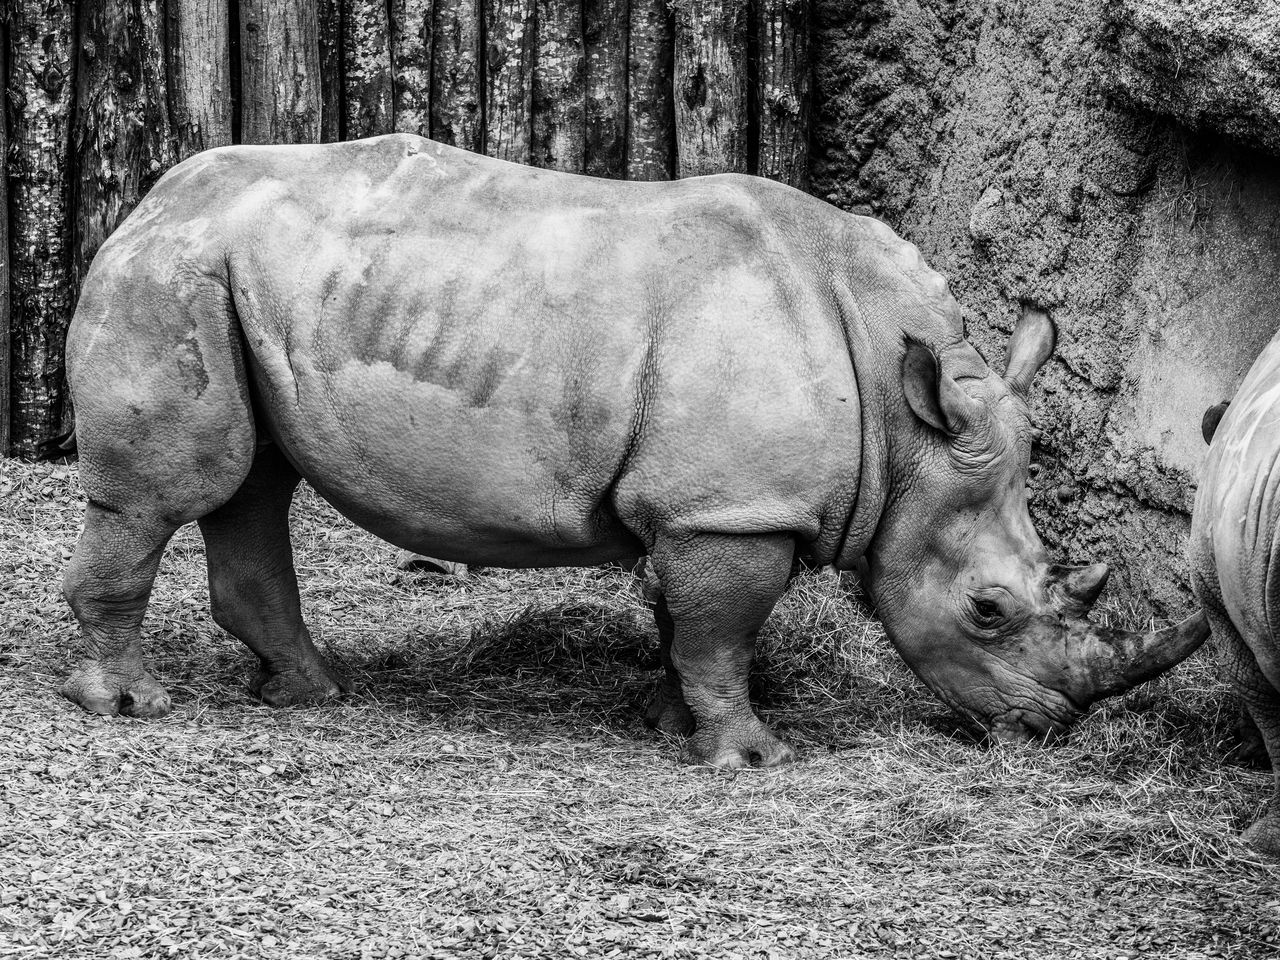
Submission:
<svg viewBox="0 0 1280 960">
<path fill-rule="evenodd" d="M 232 142 L 227 0 L 168 0 L 165 52 L 178 159 Z"/>
</svg>

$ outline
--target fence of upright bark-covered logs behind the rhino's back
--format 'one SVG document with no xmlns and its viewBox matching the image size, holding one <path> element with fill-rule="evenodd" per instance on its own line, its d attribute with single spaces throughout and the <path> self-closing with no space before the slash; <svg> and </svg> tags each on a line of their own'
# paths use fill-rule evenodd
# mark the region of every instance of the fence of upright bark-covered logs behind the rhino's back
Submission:
<svg viewBox="0 0 1280 960">
<path fill-rule="evenodd" d="M 175 163 L 392 131 L 637 180 L 808 187 L 810 0 L 6 0 L 0 453 L 73 424 L 93 253 Z"/>
</svg>

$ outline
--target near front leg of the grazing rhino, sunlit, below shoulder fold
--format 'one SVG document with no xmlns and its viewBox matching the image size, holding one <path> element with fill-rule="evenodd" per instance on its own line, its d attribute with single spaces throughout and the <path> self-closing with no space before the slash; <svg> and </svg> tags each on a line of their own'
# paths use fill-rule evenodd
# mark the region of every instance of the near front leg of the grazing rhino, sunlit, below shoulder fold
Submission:
<svg viewBox="0 0 1280 960">
<path fill-rule="evenodd" d="M 653 550 L 671 616 L 671 666 L 694 718 L 684 759 L 712 767 L 776 767 L 795 759 L 751 710 L 755 637 L 786 589 L 790 536 L 659 536 Z M 660 622 L 659 622 L 660 628 Z"/>
</svg>

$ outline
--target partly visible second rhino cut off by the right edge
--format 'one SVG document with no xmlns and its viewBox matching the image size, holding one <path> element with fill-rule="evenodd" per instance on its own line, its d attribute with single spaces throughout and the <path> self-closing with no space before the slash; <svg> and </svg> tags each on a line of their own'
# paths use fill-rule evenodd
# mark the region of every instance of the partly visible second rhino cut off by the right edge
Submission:
<svg viewBox="0 0 1280 960">
<path fill-rule="evenodd" d="M 1204 433 L 1212 443 L 1192 513 L 1192 584 L 1275 771 L 1275 794 L 1244 837 L 1280 856 L 1280 334 L 1225 412 L 1206 413 Z"/>
</svg>

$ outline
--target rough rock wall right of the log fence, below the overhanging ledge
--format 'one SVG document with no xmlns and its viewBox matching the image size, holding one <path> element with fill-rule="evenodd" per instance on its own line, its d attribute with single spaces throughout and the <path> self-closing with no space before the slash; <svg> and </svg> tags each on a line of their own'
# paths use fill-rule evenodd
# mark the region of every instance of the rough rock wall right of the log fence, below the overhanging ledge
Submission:
<svg viewBox="0 0 1280 960">
<path fill-rule="evenodd" d="M 1280 326 L 1280 160 L 1143 111 L 1121 6 L 819 0 L 813 191 L 915 242 L 988 357 L 1024 305 L 1051 314 L 1037 524 L 1172 614 L 1201 415 Z"/>
</svg>

